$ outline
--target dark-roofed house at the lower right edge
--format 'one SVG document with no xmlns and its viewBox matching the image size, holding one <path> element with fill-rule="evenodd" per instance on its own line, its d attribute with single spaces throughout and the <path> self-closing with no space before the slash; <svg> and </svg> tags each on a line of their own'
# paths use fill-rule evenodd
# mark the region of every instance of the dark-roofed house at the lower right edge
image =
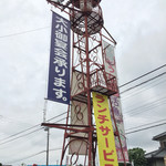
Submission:
<svg viewBox="0 0 166 166">
<path fill-rule="evenodd" d="M 166 132 L 153 137 L 153 141 L 159 142 L 159 148 L 145 155 L 147 166 L 166 166 Z"/>
</svg>

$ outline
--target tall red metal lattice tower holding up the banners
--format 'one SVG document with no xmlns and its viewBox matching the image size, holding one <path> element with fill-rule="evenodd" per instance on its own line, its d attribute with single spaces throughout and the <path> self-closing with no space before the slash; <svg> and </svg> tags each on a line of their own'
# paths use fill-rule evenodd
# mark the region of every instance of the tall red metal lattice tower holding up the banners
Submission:
<svg viewBox="0 0 166 166">
<path fill-rule="evenodd" d="M 94 118 L 93 92 L 106 96 L 110 101 L 114 135 L 118 141 L 120 155 L 122 155 L 122 160 L 125 163 L 121 134 L 113 108 L 114 104 L 111 98 L 111 96 L 118 97 L 114 59 L 116 42 L 103 25 L 101 1 L 48 0 L 49 3 L 69 14 L 73 32 L 71 44 L 72 56 L 70 59 L 72 62 L 71 90 L 66 124 L 42 124 L 64 129 L 61 165 L 65 163 L 64 156 L 69 155 L 70 165 L 76 165 L 79 160 L 82 160 L 81 164 L 84 166 L 95 166 L 97 141 L 100 139 L 97 137 L 95 118 L 101 120 L 101 123 L 108 120 L 105 118 L 105 115 Z M 98 98 L 102 101 L 101 96 Z M 97 104 L 97 106 L 101 105 Z M 106 135 L 110 131 L 104 131 L 103 127 L 103 132 L 105 132 L 103 135 Z M 107 153 L 107 155 L 112 153 L 113 151 Z M 114 158 L 107 159 L 113 160 Z M 105 166 L 112 166 L 112 164 L 105 164 Z"/>
</svg>

